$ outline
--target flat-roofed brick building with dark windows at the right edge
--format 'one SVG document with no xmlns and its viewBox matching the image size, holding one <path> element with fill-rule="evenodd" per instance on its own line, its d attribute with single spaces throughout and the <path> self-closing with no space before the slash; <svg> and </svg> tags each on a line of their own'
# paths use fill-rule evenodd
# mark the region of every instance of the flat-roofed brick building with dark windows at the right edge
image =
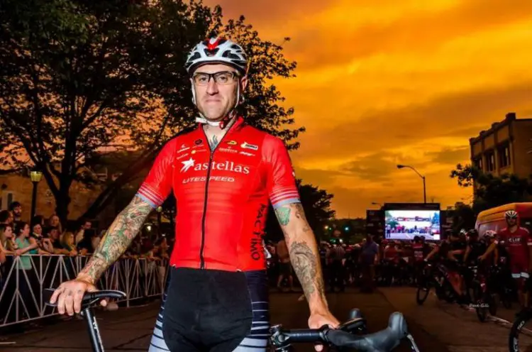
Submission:
<svg viewBox="0 0 532 352">
<path fill-rule="evenodd" d="M 532 119 L 517 119 L 515 113 L 470 138 L 471 163 L 494 176 L 532 175 Z"/>
</svg>

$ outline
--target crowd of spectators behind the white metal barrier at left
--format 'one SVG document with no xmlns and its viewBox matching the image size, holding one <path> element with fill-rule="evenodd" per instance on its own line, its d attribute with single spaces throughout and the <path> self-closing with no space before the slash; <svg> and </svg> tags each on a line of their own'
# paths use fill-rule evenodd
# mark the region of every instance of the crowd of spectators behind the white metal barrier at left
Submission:
<svg viewBox="0 0 532 352">
<path fill-rule="evenodd" d="M 53 265 L 57 265 L 57 255 L 70 258 L 63 260 L 65 275 L 75 277 L 75 258 L 88 260 L 105 234 L 105 230 L 96 231 L 90 220 L 82 220 L 63 229 L 59 217 L 55 214 L 48 219 L 44 216 L 33 216 L 31 222 L 22 219 L 23 209 L 18 202 L 13 202 L 9 210 L 0 211 L 0 294 L 3 292 L 0 311 L 8 312 L 11 298 L 17 290 L 25 307 L 19 309 L 18 317 L 14 317 L 15 309 L 11 309 L 7 319 L 9 321 L 38 316 L 38 299 L 35 297 L 39 297 L 40 285 L 53 287 L 59 284 L 53 282 L 58 280 L 58 277 L 53 277 L 46 270 L 47 267 L 53 268 Z M 163 267 L 170 258 L 171 243 L 167 236 L 150 230 L 145 227 L 122 258 L 144 258 L 153 263 L 153 266 L 157 264 Z M 164 277 L 164 273 L 162 276 Z M 116 304 L 109 307 L 116 307 Z M 0 314 L 0 325 L 4 318 L 6 316 Z"/>
</svg>

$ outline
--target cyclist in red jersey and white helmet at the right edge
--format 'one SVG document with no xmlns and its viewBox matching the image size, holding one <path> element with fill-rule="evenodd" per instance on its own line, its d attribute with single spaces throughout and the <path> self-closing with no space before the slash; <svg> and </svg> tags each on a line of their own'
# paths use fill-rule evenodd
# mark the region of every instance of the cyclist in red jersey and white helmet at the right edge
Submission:
<svg viewBox="0 0 532 352">
<path fill-rule="evenodd" d="M 504 216 L 506 228 L 497 233 L 497 240 L 480 256 L 480 259 L 487 258 L 489 253 L 497 248 L 497 244 L 503 245 L 509 253 L 511 277 L 517 280 L 519 303 L 521 307 L 528 307 L 528 292 L 525 293 L 524 288 L 532 273 L 532 237 L 527 229 L 519 226 L 517 211 L 506 211 Z"/>
</svg>

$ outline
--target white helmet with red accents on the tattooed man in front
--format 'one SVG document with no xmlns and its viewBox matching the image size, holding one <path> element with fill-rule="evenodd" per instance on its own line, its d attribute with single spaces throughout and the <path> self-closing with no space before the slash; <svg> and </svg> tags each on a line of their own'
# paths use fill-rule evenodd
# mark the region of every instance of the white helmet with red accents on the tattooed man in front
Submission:
<svg viewBox="0 0 532 352">
<path fill-rule="evenodd" d="M 248 57 L 243 48 L 226 38 L 204 40 L 192 49 L 184 67 L 189 75 L 205 63 L 228 64 L 235 67 L 241 75 L 248 73 Z"/>
</svg>

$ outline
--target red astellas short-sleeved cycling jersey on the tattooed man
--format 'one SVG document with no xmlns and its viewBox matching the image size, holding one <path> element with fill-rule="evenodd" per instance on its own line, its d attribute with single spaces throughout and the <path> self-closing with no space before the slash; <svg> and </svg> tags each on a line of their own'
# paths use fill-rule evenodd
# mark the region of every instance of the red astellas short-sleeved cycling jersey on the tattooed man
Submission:
<svg viewBox="0 0 532 352">
<path fill-rule="evenodd" d="M 137 196 L 158 207 L 177 199 L 170 265 L 228 271 L 264 270 L 268 201 L 299 203 L 284 143 L 239 117 L 211 152 L 199 126 L 169 141 Z"/>
</svg>

